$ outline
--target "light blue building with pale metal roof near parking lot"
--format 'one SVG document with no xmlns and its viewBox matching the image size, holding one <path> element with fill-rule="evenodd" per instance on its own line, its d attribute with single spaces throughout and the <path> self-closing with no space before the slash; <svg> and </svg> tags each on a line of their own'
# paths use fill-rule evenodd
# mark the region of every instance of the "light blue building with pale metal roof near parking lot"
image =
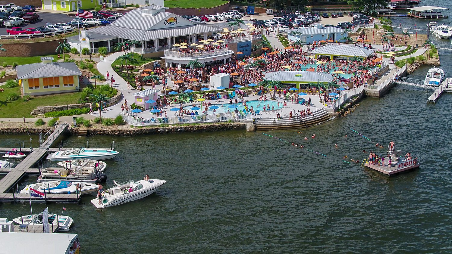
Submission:
<svg viewBox="0 0 452 254">
<path fill-rule="evenodd" d="M 300 32 L 297 35 L 297 38 L 294 35 L 291 35 L 292 32 Z M 345 42 L 345 40 L 341 39 L 342 37 L 347 36 L 347 32 L 345 32 L 342 28 L 335 27 L 324 27 L 322 24 L 315 24 L 313 27 L 308 28 L 297 28 L 292 29 L 287 32 L 287 39 L 292 41 L 302 41 L 306 42 L 306 44 L 313 43 L 314 41 L 328 41 L 333 40 L 334 42 Z"/>
</svg>

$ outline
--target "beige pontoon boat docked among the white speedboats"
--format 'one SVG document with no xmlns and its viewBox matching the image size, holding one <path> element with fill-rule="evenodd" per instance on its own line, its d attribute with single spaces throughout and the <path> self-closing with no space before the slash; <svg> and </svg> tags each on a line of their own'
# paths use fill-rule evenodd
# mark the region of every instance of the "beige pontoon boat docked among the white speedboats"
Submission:
<svg viewBox="0 0 452 254">
<path fill-rule="evenodd" d="M 81 166 L 77 168 L 47 167 L 41 171 L 38 183 L 63 180 L 69 182 L 96 183 L 107 180 L 105 174 L 101 174 L 94 167 Z"/>
</svg>

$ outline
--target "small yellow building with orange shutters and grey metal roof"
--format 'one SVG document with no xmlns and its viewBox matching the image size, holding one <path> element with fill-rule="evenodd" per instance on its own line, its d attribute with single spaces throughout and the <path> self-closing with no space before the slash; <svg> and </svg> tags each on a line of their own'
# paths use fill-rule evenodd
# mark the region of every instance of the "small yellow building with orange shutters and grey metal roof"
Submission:
<svg viewBox="0 0 452 254">
<path fill-rule="evenodd" d="M 24 96 L 80 90 L 79 77 L 82 73 L 75 63 L 53 62 L 51 56 L 41 57 L 41 60 L 42 63 L 16 66 Z"/>
</svg>

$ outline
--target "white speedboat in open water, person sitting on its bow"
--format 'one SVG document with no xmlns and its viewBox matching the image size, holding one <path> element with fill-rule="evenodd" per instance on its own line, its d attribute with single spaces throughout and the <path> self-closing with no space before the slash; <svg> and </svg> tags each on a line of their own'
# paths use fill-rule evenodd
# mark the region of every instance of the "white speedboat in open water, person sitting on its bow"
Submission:
<svg viewBox="0 0 452 254">
<path fill-rule="evenodd" d="M 130 201 L 135 201 L 137 199 L 142 199 L 154 193 L 166 181 L 154 179 L 148 181 L 130 180 L 121 184 L 118 184 L 116 181 L 113 182 L 116 186 L 107 189 L 102 193 L 102 199 L 100 200 L 100 203 L 97 197 L 91 200 L 91 203 L 96 208 L 106 208 Z"/>
</svg>

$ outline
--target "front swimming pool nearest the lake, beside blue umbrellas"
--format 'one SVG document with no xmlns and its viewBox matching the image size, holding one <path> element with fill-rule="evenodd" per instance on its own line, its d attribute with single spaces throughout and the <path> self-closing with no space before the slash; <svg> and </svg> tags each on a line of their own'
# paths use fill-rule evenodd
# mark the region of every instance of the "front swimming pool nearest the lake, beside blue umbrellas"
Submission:
<svg viewBox="0 0 452 254">
<path fill-rule="evenodd" d="M 259 101 L 249 101 L 249 102 L 246 102 L 246 106 L 248 106 L 248 109 L 250 109 L 251 106 L 252 106 L 253 109 L 254 109 L 254 111 L 256 111 L 256 110 L 264 111 L 264 103 L 265 103 L 265 106 L 267 106 L 267 105 L 270 106 L 270 109 L 272 108 L 272 106 L 273 106 L 274 110 L 277 110 L 277 109 L 282 108 L 282 103 L 279 103 L 279 106 L 278 106 L 278 102 L 275 102 L 275 101 L 269 101 L 269 100 L 267 100 L 267 102 L 264 102 L 264 101 L 262 101 L 262 102 L 259 102 Z M 223 103 L 223 105 L 221 105 L 221 104 L 212 104 L 211 106 L 214 106 L 214 105 L 219 107 L 219 108 L 216 109 L 215 114 L 226 113 L 226 112 L 228 112 L 228 109 L 229 109 L 229 112 L 235 111 L 235 108 L 230 108 L 230 107 L 229 107 L 229 106 L 231 106 L 231 105 L 229 105 L 229 100 L 226 100 L 226 101 Z M 232 105 L 234 105 L 234 104 L 232 104 Z M 237 103 L 237 104 L 235 104 L 235 105 L 238 106 L 237 109 L 238 109 L 239 111 L 241 111 L 241 112 L 243 112 L 243 110 L 245 109 L 245 106 L 243 106 L 241 102 L 240 102 L 240 103 Z M 205 109 L 205 107 L 206 107 L 206 106 L 202 106 L 202 107 L 201 107 L 200 104 L 197 104 L 196 106 L 201 108 L 200 110 L 198 110 L 198 113 L 199 113 L 199 114 L 201 114 L 202 111 L 204 111 L 204 109 Z M 208 115 L 213 115 L 213 109 L 210 108 L 211 106 L 208 107 L 208 108 L 209 108 L 209 113 L 208 113 Z M 193 105 L 190 105 L 190 106 L 184 106 L 183 109 L 185 109 L 185 110 L 188 109 L 188 110 L 192 111 L 192 110 L 191 110 L 192 107 L 193 107 Z"/>
</svg>

